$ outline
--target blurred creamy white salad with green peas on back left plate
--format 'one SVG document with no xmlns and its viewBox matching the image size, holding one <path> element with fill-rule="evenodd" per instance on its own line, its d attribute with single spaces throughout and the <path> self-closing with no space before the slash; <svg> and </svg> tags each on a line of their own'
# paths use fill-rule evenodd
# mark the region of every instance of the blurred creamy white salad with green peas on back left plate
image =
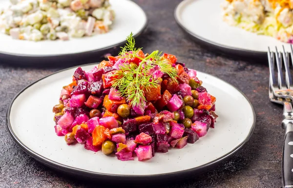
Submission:
<svg viewBox="0 0 293 188">
<path fill-rule="evenodd" d="M 114 20 L 108 0 L 10 0 L 0 32 L 13 39 L 68 40 L 106 33 Z"/>
</svg>

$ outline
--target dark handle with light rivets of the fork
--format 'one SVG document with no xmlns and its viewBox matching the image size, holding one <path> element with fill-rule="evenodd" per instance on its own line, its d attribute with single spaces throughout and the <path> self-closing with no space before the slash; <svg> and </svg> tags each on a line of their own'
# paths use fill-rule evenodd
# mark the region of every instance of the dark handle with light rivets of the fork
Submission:
<svg viewBox="0 0 293 188">
<path fill-rule="evenodd" d="M 293 124 L 288 123 L 286 126 L 293 127 Z M 284 188 L 293 188 L 293 131 L 287 132 L 284 139 L 282 179 Z"/>
</svg>

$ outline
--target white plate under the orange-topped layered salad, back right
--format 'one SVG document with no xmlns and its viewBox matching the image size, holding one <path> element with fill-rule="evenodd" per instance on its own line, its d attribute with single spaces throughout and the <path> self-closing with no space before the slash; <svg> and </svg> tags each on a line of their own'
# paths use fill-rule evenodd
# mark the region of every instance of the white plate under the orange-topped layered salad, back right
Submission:
<svg viewBox="0 0 293 188">
<path fill-rule="evenodd" d="M 222 20 L 224 0 L 183 0 L 175 9 L 177 23 L 192 37 L 221 51 L 239 55 L 266 56 L 268 46 L 290 44 L 228 25 Z"/>
</svg>

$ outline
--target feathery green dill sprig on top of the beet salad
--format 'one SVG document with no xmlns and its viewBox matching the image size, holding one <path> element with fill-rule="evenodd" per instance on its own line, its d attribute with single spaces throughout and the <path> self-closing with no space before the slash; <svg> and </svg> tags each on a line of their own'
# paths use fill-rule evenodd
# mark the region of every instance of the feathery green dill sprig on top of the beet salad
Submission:
<svg viewBox="0 0 293 188">
<path fill-rule="evenodd" d="M 166 73 L 175 82 L 177 77 L 177 71 L 166 59 L 162 58 L 162 52 L 158 50 L 153 51 L 145 58 L 141 58 L 137 55 L 137 52 L 142 48 L 135 47 L 135 40 L 131 33 L 126 39 L 126 45 L 121 47 L 119 53 L 120 58 L 128 61 L 131 58 L 138 58 L 141 60 L 139 66 L 133 66 L 128 63 L 124 63 L 119 66 L 119 70 L 116 71 L 113 87 L 115 87 L 120 96 L 125 97 L 129 101 L 130 105 L 136 106 L 146 101 L 145 92 L 149 92 L 152 88 L 159 86 L 161 79 L 154 79 L 150 71 L 155 66 Z"/>
</svg>

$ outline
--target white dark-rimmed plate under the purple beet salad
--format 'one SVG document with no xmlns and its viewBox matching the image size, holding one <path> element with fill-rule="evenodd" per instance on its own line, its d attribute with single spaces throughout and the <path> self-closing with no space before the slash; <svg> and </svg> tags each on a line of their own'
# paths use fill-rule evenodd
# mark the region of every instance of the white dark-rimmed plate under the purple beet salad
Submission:
<svg viewBox="0 0 293 188">
<path fill-rule="evenodd" d="M 94 64 L 82 66 L 90 70 Z M 219 115 L 215 128 L 205 137 L 182 149 L 156 153 L 139 162 L 119 161 L 102 152 L 94 153 L 83 145 L 67 146 L 64 137 L 54 130 L 52 107 L 58 103 L 61 88 L 71 82 L 77 67 L 49 75 L 24 88 L 12 101 L 7 112 L 8 129 L 24 151 L 38 161 L 66 173 L 114 181 L 151 181 L 186 177 L 214 167 L 227 159 L 251 137 L 255 114 L 248 99 L 232 85 L 209 74 L 198 72 L 209 93 L 217 98 Z"/>
</svg>

